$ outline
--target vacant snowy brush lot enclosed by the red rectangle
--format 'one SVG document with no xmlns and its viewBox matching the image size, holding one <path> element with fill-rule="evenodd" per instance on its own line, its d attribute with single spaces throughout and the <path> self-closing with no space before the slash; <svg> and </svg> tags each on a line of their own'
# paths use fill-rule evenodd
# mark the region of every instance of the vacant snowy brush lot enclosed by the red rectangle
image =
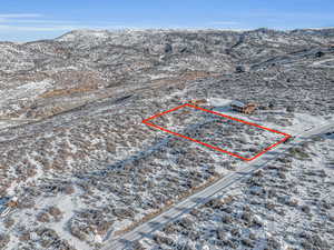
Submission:
<svg viewBox="0 0 334 250">
<path fill-rule="evenodd" d="M 257 156 L 286 137 L 226 114 L 219 116 L 217 112 L 212 113 L 189 106 L 175 109 L 154 116 L 146 122 L 153 127 L 158 126 L 157 129 L 178 133 L 174 136 L 180 140 L 184 140 L 184 136 L 196 140 L 197 143 L 205 142 L 207 147 L 218 148 L 217 151 L 223 149 L 243 159 Z"/>
</svg>

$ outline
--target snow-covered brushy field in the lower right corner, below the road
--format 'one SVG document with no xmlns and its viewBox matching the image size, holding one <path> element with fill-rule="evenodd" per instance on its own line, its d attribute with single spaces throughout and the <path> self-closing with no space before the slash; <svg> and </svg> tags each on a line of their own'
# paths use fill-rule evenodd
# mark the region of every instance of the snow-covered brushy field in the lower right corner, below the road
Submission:
<svg viewBox="0 0 334 250">
<path fill-rule="evenodd" d="M 332 249 L 333 139 L 334 134 L 323 136 L 303 143 L 229 193 L 217 193 L 153 239 L 134 244 L 145 249 Z"/>
</svg>

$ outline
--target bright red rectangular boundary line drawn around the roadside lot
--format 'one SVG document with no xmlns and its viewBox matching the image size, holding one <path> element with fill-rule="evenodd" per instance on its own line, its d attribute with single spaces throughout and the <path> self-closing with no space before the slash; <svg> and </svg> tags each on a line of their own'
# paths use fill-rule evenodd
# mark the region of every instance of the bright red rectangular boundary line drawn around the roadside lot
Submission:
<svg viewBox="0 0 334 250">
<path fill-rule="evenodd" d="M 252 157 L 252 158 L 245 158 L 245 157 L 242 157 L 242 156 L 239 156 L 239 154 L 237 154 L 237 153 L 234 153 L 234 152 L 224 150 L 224 149 L 222 149 L 222 148 L 218 148 L 218 147 L 215 147 L 215 146 L 205 143 L 205 142 L 199 141 L 199 140 L 196 140 L 196 139 L 194 139 L 194 138 L 186 137 L 186 136 L 184 136 L 184 134 L 180 134 L 180 133 L 170 131 L 170 130 L 165 129 L 165 128 L 163 128 L 163 127 L 160 127 L 160 126 L 157 126 L 157 124 L 154 124 L 154 123 L 151 123 L 151 122 L 148 122 L 148 121 L 150 121 L 150 120 L 153 120 L 153 119 L 155 119 L 155 118 L 161 117 L 161 116 L 164 116 L 164 114 L 166 114 L 166 113 L 176 111 L 176 110 L 181 109 L 181 108 L 184 108 L 184 107 L 190 107 L 190 108 L 194 108 L 194 109 L 197 109 L 197 110 L 202 110 L 202 111 L 205 111 L 205 112 L 214 113 L 214 114 L 219 116 L 219 117 L 224 117 L 224 118 L 227 118 L 227 119 L 230 119 L 230 120 L 234 120 L 234 121 L 243 122 L 243 123 L 245 123 L 245 124 L 254 126 L 254 127 L 257 127 L 257 128 L 259 128 L 259 129 L 264 129 L 264 130 L 267 130 L 267 131 L 271 131 L 271 132 L 274 132 L 274 133 L 279 133 L 279 134 L 283 134 L 283 136 L 285 136 L 285 137 L 284 137 L 282 140 L 277 141 L 276 143 L 274 143 L 274 144 L 269 146 L 268 148 L 264 149 L 263 151 L 261 151 L 261 152 L 257 153 L 256 156 L 254 156 L 254 157 Z M 254 160 L 254 159 L 261 157 L 262 154 L 264 154 L 264 153 L 267 152 L 268 150 L 273 149 L 274 147 L 281 144 L 282 142 L 286 141 L 288 138 L 292 137 L 292 136 L 288 134 L 288 133 L 284 133 L 284 132 L 281 132 L 281 131 L 277 131 L 277 130 L 274 130 L 274 129 L 269 129 L 269 128 L 266 128 L 266 127 L 263 127 L 263 126 L 253 123 L 253 122 L 248 122 L 248 121 L 245 121 L 245 120 L 242 120 L 242 119 L 238 119 L 238 118 L 229 117 L 229 116 L 227 116 L 227 114 L 219 113 L 219 112 L 215 112 L 215 111 L 212 111 L 212 110 L 208 110 L 208 109 L 204 109 L 204 108 L 200 108 L 200 107 L 197 107 L 197 106 L 193 106 L 193 104 L 189 104 L 189 103 L 185 103 L 185 104 L 178 106 L 178 107 L 176 107 L 176 108 L 174 108 L 174 109 L 169 109 L 169 110 L 167 110 L 167 111 L 164 111 L 164 112 L 161 112 L 161 113 L 157 113 L 157 114 L 155 114 L 155 116 L 153 116 L 153 117 L 150 117 L 150 118 L 148 118 L 148 119 L 143 120 L 141 122 L 145 123 L 145 124 L 147 124 L 147 126 L 150 126 L 150 127 L 154 127 L 154 128 L 156 128 L 156 129 L 159 129 L 159 130 L 161 130 L 161 131 L 171 133 L 171 134 L 177 136 L 177 137 L 185 138 L 185 139 L 187 139 L 187 140 L 197 142 L 197 143 L 203 144 L 203 146 L 205 146 L 205 147 L 215 149 L 215 150 L 217 150 L 217 151 L 219 151 L 219 152 L 227 153 L 227 154 L 229 154 L 229 156 L 239 158 L 239 159 L 245 160 L 245 161 L 252 161 L 252 160 Z"/>
</svg>

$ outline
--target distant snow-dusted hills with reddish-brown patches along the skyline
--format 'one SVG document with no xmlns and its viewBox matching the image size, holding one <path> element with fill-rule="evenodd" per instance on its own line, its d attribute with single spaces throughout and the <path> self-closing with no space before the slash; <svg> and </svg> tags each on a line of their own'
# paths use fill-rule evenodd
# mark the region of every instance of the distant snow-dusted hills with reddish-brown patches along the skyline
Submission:
<svg viewBox="0 0 334 250">
<path fill-rule="evenodd" d="M 76 30 L 53 40 L 0 42 L 0 118 L 39 119 L 118 86 L 230 73 L 333 43 L 334 29 Z"/>
</svg>

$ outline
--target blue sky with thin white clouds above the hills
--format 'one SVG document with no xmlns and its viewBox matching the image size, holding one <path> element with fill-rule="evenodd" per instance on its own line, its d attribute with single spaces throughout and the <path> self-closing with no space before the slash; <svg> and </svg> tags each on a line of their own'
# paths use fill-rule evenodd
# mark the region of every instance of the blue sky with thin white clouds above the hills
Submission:
<svg viewBox="0 0 334 250">
<path fill-rule="evenodd" d="M 0 6 L 0 41 L 49 39 L 73 29 L 262 27 L 334 27 L 334 0 L 7 0 Z"/>
</svg>

